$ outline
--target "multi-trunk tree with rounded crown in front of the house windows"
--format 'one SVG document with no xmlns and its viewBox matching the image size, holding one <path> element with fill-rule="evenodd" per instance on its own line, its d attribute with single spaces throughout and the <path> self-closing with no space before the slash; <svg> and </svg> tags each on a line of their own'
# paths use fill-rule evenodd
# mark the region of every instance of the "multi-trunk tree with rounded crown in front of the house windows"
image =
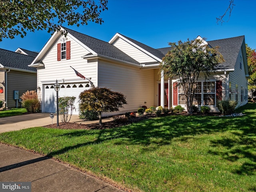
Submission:
<svg viewBox="0 0 256 192">
<path fill-rule="evenodd" d="M 200 39 L 186 42 L 180 40 L 178 43 L 169 43 L 169 45 L 171 50 L 162 59 L 160 68 L 169 78 L 178 76 L 184 90 L 187 112 L 192 113 L 199 73 L 202 72 L 205 78 L 208 78 L 210 72 L 214 71 L 214 66 L 223 62 L 224 59 L 218 52 L 218 47 L 210 48 Z"/>
</svg>

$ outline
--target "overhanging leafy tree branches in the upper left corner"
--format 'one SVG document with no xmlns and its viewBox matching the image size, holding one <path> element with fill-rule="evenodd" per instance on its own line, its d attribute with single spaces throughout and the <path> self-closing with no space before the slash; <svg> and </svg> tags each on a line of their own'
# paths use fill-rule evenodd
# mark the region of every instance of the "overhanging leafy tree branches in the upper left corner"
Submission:
<svg viewBox="0 0 256 192">
<path fill-rule="evenodd" d="M 107 10 L 108 0 L 0 0 L 0 41 L 22 38 L 27 32 L 60 31 L 60 25 L 102 24 L 100 13 Z"/>
</svg>

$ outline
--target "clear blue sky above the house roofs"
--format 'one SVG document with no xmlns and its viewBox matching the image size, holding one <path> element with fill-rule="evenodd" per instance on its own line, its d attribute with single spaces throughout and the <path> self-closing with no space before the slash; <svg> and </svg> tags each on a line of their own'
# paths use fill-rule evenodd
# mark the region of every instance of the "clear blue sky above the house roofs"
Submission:
<svg viewBox="0 0 256 192">
<path fill-rule="evenodd" d="M 102 25 L 63 26 L 107 42 L 118 32 L 153 48 L 198 35 L 206 40 L 244 35 L 246 44 L 256 49 L 256 1 L 234 0 L 234 4 L 230 20 L 217 24 L 216 17 L 225 12 L 229 0 L 109 0 Z M 30 32 L 24 38 L 4 39 L 0 48 L 39 52 L 49 38 L 47 31 Z"/>
</svg>

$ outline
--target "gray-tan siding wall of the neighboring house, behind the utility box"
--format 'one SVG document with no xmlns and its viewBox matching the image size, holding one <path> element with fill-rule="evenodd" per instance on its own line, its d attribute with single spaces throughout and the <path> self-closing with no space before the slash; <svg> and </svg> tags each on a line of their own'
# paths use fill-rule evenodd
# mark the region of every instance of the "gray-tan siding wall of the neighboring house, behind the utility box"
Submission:
<svg viewBox="0 0 256 192">
<path fill-rule="evenodd" d="M 7 86 L 7 107 L 14 108 L 16 101 L 13 99 L 13 91 L 18 90 L 20 97 L 27 90 L 36 90 L 36 73 L 10 70 L 7 73 Z"/>
</svg>

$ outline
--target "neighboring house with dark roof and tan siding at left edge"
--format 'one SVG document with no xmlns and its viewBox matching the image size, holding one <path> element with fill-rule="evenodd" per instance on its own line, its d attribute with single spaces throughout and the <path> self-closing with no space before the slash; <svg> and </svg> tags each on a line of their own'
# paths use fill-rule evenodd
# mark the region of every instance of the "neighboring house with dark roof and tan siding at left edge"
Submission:
<svg viewBox="0 0 256 192">
<path fill-rule="evenodd" d="M 0 49 L 0 100 L 4 107 L 20 107 L 20 96 L 27 90 L 36 90 L 36 69 L 28 64 L 38 53 L 20 53 Z"/>
</svg>

